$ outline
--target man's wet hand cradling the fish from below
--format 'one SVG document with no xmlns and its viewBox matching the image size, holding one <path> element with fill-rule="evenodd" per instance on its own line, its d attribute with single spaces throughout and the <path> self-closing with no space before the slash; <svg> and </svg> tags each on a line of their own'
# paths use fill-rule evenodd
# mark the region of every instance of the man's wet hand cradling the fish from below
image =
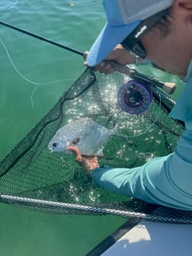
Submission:
<svg viewBox="0 0 192 256">
<path fill-rule="evenodd" d="M 85 156 L 83 157 L 79 149 L 75 146 L 69 146 L 68 150 L 72 151 L 75 155 L 75 161 L 78 162 L 85 171 L 91 171 L 95 168 L 99 168 L 98 158 L 96 156 Z"/>
</svg>

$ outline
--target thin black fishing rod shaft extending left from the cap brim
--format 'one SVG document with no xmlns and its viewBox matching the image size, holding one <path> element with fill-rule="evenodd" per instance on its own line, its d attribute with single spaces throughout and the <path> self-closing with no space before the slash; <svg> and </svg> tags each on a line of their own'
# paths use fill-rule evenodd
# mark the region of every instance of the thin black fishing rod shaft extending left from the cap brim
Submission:
<svg viewBox="0 0 192 256">
<path fill-rule="evenodd" d="M 14 29 L 14 30 L 17 30 L 17 31 L 19 31 L 19 32 L 21 32 L 21 33 L 23 33 L 23 34 L 27 34 L 27 35 L 30 36 L 30 37 L 37 38 L 37 39 L 42 40 L 42 41 L 45 41 L 45 42 L 47 42 L 47 43 L 51 43 L 51 44 L 53 44 L 54 46 L 58 46 L 58 47 L 60 47 L 60 48 L 62 48 L 62 49 L 69 50 L 69 51 L 71 51 L 72 53 L 77 53 L 78 55 L 84 56 L 84 53 L 82 53 L 82 52 L 80 52 L 80 51 L 78 51 L 78 50 L 75 50 L 75 49 L 73 49 L 73 48 L 71 48 L 71 47 L 69 47 L 69 46 L 65 46 L 65 45 L 63 45 L 63 44 L 61 44 L 61 43 L 57 43 L 57 42 L 55 42 L 55 41 L 53 41 L 53 40 L 50 40 L 50 39 L 48 39 L 48 38 L 46 38 L 46 37 L 41 37 L 40 35 L 34 34 L 34 33 L 30 32 L 30 31 L 23 30 L 23 29 L 21 29 L 20 27 L 15 27 L 15 26 L 13 26 L 13 25 L 11 25 L 11 24 L 8 24 L 8 23 L 5 23 L 5 22 L 3 22 L 3 21 L 0 21 L 0 24 L 2 24 L 2 25 L 5 26 L 5 27 L 10 27 L 10 28 L 12 28 L 12 29 Z"/>
</svg>

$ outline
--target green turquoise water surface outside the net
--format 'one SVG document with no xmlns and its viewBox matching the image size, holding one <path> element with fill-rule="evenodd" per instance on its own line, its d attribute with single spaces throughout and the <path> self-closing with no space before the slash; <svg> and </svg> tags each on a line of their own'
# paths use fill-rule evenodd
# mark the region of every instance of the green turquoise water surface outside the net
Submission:
<svg viewBox="0 0 192 256">
<path fill-rule="evenodd" d="M 2 21 L 82 52 L 105 23 L 101 1 L 94 0 L 1 0 L 0 10 Z M 75 53 L 2 25 L 0 32 L 2 159 L 85 68 L 82 56 Z M 150 66 L 141 69 L 156 72 Z M 181 90 L 182 84 L 174 98 Z M 83 256 L 125 221 L 115 216 L 57 216 L 4 204 L 0 213 L 0 255 L 4 256 Z"/>
</svg>

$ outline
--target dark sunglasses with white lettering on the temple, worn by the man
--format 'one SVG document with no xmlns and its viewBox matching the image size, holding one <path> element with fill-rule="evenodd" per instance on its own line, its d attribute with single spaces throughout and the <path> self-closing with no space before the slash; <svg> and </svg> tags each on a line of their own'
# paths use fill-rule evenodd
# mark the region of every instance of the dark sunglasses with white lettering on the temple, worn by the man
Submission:
<svg viewBox="0 0 192 256">
<path fill-rule="evenodd" d="M 146 50 L 142 46 L 142 43 L 140 41 L 140 38 L 144 36 L 149 30 L 152 29 L 152 27 L 155 26 L 155 24 L 158 23 L 158 21 L 165 16 L 165 14 L 168 13 L 168 9 L 164 11 L 158 12 L 158 14 L 153 15 L 150 18 L 147 18 L 145 21 L 142 21 L 141 24 L 139 24 L 138 27 L 136 27 L 133 32 L 126 37 L 126 39 L 123 40 L 121 43 L 123 47 L 126 50 L 129 50 L 131 54 L 136 56 L 136 58 L 146 58 Z"/>
</svg>

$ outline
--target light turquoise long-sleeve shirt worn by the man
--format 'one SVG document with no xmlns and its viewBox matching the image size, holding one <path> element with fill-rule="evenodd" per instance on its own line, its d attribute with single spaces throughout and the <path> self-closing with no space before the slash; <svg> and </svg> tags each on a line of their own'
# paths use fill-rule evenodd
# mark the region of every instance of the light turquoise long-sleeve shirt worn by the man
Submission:
<svg viewBox="0 0 192 256">
<path fill-rule="evenodd" d="M 136 168 L 96 168 L 91 176 L 101 187 L 149 203 L 192 210 L 192 62 L 186 80 L 170 114 L 186 126 L 174 152 Z"/>
</svg>

